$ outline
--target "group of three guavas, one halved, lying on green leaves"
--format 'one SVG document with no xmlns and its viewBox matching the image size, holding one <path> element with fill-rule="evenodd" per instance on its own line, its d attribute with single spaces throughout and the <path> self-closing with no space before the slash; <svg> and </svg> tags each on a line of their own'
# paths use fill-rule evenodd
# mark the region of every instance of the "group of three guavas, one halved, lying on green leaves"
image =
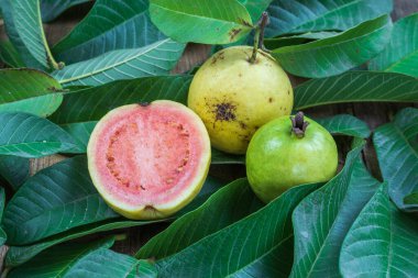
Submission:
<svg viewBox="0 0 418 278">
<path fill-rule="evenodd" d="M 262 49 L 251 60 L 253 49 L 234 46 L 210 57 L 191 81 L 189 109 L 155 101 L 117 108 L 99 121 L 88 144 L 89 171 L 111 208 L 136 220 L 176 213 L 204 185 L 210 144 L 248 152 L 250 185 L 264 202 L 336 175 L 331 134 L 302 112 L 289 116 L 289 78 Z"/>
</svg>

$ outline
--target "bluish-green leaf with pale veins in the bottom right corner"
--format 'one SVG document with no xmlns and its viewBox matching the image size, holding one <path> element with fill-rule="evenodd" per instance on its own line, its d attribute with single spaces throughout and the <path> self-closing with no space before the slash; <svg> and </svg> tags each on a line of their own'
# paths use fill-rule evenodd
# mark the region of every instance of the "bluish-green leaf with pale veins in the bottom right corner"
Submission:
<svg viewBox="0 0 418 278">
<path fill-rule="evenodd" d="M 418 223 L 391 202 L 384 185 L 360 213 L 341 249 L 343 277 L 415 277 Z"/>
</svg>

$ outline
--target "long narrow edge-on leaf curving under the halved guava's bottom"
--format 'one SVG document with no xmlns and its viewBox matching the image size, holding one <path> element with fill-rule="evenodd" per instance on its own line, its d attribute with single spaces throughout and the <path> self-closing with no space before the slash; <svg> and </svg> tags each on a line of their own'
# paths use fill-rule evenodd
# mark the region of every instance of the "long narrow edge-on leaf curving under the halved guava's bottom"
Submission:
<svg viewBox="0 0 418 278">
<path fill-rule="evenodd" d="M 110 220 L 101 221 L 98 223 L 91 223 L 91 224 L 82 225 L 80 227 L 72 229 L 67 232 L 59 233 L 57 235 L 46 238 L 45 241 L 37 242 L 32 245 L 10 246 L 6 256 L 6 266 L 15 267 L 18 265 L 21 265 L 28 262 L 29 259 L 33 258 L 38 253 L 41 253 L 42 251 L 46 248 L 50 248 L 51 246 L 54 246 L 56 244 L 67 242 L 70 240 L 79 238 L 81 236 L 106 232 L 106 231 L 132 227 L 132 226 L 148 225 L 152 223 L 158 223 L 163 221 L 172 221 L 176 218 L 179 218 L 188 213 L 189 211 L 195 210 L 196 208 L 199 208 L 211 194 L 213 194 L 220 188 L 222 188 L 223 185 L 224 185 L 223 181 L 209 176 L 206 179 L 204 188 L 200 190 L 199 194 L 188 205 L 186 205 L 175 215 L 166 220 L 132 221 L 132 220 L 124 220 L 123 218 L 110 219 Z"/>
</svg>

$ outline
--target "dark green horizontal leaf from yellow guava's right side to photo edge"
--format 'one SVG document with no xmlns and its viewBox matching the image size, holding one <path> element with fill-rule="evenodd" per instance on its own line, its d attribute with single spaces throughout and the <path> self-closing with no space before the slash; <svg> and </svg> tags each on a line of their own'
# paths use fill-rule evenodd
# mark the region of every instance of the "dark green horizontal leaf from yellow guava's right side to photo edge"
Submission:
<svg viewBox="0 0 418 278">
<path fill-rule="evenodd" d="M 349 71 L 295 89 L 295 110 L 342 102 L 418 102 L 418 79 L 392 73 Z"/>
</svg>

